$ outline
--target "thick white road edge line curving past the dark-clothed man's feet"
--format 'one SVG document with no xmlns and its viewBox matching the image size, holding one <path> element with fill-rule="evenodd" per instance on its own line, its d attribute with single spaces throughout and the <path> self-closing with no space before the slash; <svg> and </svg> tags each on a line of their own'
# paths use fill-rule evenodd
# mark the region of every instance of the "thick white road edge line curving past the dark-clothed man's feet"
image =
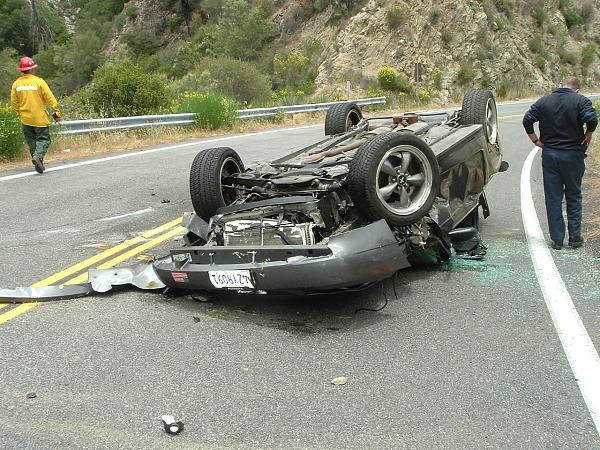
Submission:
<svg viewBox="0 0 600 450">
<path fill-rule="evenodd" d="M 600 357 L 575 309 L 544 239 L 531 195 L 534 147 L 521 170 L 521 214 L 535 274 L 579 390 L 600 434 Z"/>
</svg>

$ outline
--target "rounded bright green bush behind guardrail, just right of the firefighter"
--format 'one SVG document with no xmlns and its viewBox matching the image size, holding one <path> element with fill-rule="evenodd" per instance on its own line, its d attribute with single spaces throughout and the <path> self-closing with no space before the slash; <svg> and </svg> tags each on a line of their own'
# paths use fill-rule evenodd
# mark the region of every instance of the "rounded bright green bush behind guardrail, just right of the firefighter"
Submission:
<svg viewBox="0 0 600 450">
<path fill-rule="evenodd" d="M 82 99 L 94 112 L 117 117 L 155 114 L 171 103 L 165 82 L 129 60 L 96 70 Z"/>
</svg>

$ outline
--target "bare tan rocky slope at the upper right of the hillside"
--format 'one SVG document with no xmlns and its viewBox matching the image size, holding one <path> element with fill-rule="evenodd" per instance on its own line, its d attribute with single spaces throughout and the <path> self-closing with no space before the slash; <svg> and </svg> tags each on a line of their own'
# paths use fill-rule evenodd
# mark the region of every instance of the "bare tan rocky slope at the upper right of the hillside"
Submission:
<svg viewBox="0 0 600 450">
<path fill-rule="evenodd" d="M 320 87 L 347 79 L 364 86 L 382 66 L 414 80 L 415 63 L 423 64 L 425 85 L 438 74 L 445 95 L 457 83 L 536 91 L 570 73 L 590 84 L 600 80 L 597 0 L 363 3 L 332 24 L 333 6 L 307 17 L 304 2 L 282 2 L 274 16 L 277 45 L 301 51 L 311 40 L 323 43 Z"/>
</svg>

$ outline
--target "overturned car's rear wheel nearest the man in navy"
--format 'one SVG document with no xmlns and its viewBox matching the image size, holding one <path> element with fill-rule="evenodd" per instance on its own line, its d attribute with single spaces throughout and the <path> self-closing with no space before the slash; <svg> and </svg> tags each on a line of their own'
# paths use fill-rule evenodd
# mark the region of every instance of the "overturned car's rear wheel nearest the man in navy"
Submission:
<svg viewBox="0 0 600 450">
<path fill-rule="evenodd" d="M 496 100 L 487 89 L 469 91 L 463 98 L 462 125 L 483 125 L 485 137 L 492 145 L 498 140 Z"/>
</svg>

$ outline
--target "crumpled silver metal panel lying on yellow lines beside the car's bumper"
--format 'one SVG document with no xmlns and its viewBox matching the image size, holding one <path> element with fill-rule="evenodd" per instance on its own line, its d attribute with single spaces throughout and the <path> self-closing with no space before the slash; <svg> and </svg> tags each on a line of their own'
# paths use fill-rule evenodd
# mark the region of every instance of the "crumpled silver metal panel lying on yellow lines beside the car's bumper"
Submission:
<svg viewBox="0 0 600 450">
<path fill-rule="evenodd" d="M 96 292 L 107 292 L 113 286 L 132 284 L 140 289 L 161 289 L 165 284 L 156 275 L 152 264 L 141 263 L 112 269 L 90 269 L 88 279 Z"/>
</svg>

